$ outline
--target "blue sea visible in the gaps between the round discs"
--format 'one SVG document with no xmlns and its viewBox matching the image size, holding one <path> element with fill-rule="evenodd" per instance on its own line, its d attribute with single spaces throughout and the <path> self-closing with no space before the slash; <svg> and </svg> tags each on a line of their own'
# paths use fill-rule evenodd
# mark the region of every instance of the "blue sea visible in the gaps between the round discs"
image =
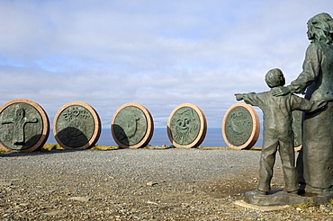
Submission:
<svg viewBox="0 0 333 221">
<path fill-rule="evenodd" d="M 260 134 L 257 144 L 255 146 L 261 146 L 263 143 L 262 135 Z M 53 132 L 49 132 L 49 139 L 47 144 L 57 144 L 56 139 L 53 136 Z M 167 137 L 166 128 L 154 128 L 154 134 L 151 138 L 150 146 L 170 146 L 171 142 Z M 96 145 L 100 146 L 118 146 L 112 137 L 110 128 L 102 128 L 101 137 L 97 141 Z M 222 137 L 220 128 L 207 128 L 207 134 L 200 146 L 212 147 L 212 146 L 227 146 Z"/>
</svg>

